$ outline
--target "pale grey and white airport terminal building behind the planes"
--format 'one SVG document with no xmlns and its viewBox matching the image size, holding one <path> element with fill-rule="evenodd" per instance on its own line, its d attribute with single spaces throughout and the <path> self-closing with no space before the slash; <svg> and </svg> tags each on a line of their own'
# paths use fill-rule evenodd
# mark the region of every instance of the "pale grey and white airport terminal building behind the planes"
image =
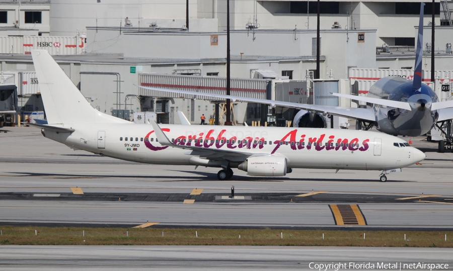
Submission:
<svg viewBox="0 0 453 271">
<path fill-rule="evenodd" d="M 189 1 L 188 25 L 185 3 L 0 1 L 0 77 L 17 86 L 18 105 L 14 111 L 22 118 L 41 116 L 36 113 L 42 112 L 43 106 L 29 54 L 32 49 L 46 49 L 101 112 L 132 120 L 134 113 L 154 111 L 164 113 L 157 115 L 165 123 L 179 123 L 174 110 L 183 111 L 192 123 L 198 123 L 201 114 L 215 115 L 216 109 L 221 111 L 220 101 L 172 97 L 135 86 L 173 85 L 194 90 L 203 85 L 223 89 L 226 2 Z M 432 7 L 425 8 L 423 67 L 431 69 L 430 51 L 434 50 L 437 80 L 442 82 L 449 82 L 447 74 L 453 70 L 451 45 L 448 47 L 453 37 L 452 3 L 434 5 L 434 48 L 428 44 Z M 315 4 L 231 0 L 231 75 L 241 95 L 256 95 L 247 89 L 262 84 L 253 89 L 262 89 L 263 98 L 330 104 L 332 97 L 326 101 L 317 97 L 325 97 L 323 91 L 364 95 L 366 87 L 377 80 L 357 70 L 406 70 L 406 74 L 413 69 L 420 1 L 321 1 L 321 79 L 313 80 Z M 191 87 L 184 87 L 185 80 L 192 80 Z M 358 85 L 353 86 L 355 82 Z M 345 99 L 333 102 L 354 106 Z M 294 115 L 293 110 L 269 110 L 240 102 L 233 112 L 238 124 L 276 124 L 278 119 L 290 121 Z"/>
</svg>

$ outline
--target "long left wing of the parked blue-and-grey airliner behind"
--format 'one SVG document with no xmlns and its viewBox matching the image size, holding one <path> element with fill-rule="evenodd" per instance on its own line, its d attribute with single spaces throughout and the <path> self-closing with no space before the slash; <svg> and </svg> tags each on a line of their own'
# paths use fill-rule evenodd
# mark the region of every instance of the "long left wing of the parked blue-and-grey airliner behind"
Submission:
<svg viewBox="0 0 453 271">
<path fill-rule="evenodd" d="M 372 122 L 376 121 L 374 112 L 372 111 L 372 109 L 368 109 L 368 108 L 318 106 L 318 105 L 308 105 L 308 104 L 280 102 L 280 101 L 272 101 L 272 100 L 264 100 L 264 99 L 246 98 L 246 97 L 240 97 L 240 96 L 228 96 L 228 95 L 221 95 L 221 94 L 179 91 L 176 89 L 149 87 L 149 86 L 141 86 L 141 85 L 136 85 L 136 86 L 141 87 L 141 88 L 146 88 L 146 89 L 152 89 L 154 91 L 171 92 L 171 93 L 179 93 L 179 94 L 190 94 L 190 95 L 214 97 L 214 98 L 220 98 L 220 99 L 231 99 L 233 102 L 244 101 L 244 102 L 250 102 L 250 103 L 257 103 L 257 104 L 266 104 L 266 105 L 270 105 L 272 107 L 281 106 L 281 107 L 297 108 L 297 109 L 304 109 L 304 110 L 308 110 L 308 111 L 315 111 L 315 112 L 322 113 L 322 114 L 331 114 L 331 115 L 352 118 L 352 119 L 361 119 L 361 120 L 372 121 Z"/>
</svg>

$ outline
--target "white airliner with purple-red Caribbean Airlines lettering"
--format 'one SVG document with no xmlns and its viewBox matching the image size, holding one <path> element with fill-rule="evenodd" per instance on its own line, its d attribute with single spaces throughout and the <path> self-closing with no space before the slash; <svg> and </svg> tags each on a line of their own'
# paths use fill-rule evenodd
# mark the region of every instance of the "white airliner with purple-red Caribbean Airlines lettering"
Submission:
<svg viewBox="0 0 453 271">
<path fill-rule="evenodd" d="M 32 50 L 47 124 L 45 137 L 74 149 L 153 164 L 232 168 L 252 176 L 284 176 L 292 168 L 382 170 L 386 174 L 425 158 L 391 135 L 355 130 L 134 124 L 94 109 L 45 50 Z"/>
</svg>

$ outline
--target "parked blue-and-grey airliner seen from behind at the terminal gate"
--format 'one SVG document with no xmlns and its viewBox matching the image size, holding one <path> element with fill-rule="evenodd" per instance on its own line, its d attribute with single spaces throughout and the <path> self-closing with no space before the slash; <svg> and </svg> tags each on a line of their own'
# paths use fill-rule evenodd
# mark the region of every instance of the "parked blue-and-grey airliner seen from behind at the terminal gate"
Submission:
<svg viewBox="0 0 453 271">
<path fill-rule="evenodd" d="M 433 90 L 422 84 L 422 54 L 423 54 L 423 6 L 420 8 L 418 27 L 418 42 L 415 56 L 415 74 L 413 80 L 399 76 L 388 76 L 376 81 L 366 97 L 334 93 L 334 96 L 349 98 L 367 103 L 367 108 L 342 108 L 297 104 L 271 100 L 244 98 L 207 94 L 201 92 L 187 92 L 174 89 L 139 86 L 156 91 L 193 94 L 197 96 L 232 99 L 251 103 L 267 104 L 272 107 L 282 106 L 297 108 L 300 111 L 293 120 L 294 127 L 324 128 L 325 118 L 322 115 L 337 115 L 357 119 L 358 123 L 365 123 L 365 130 L 375 126 L 376 129 L 390 135 L 419 136 L 430 131 L 436 123 L 453 119 L 453 101 L 439 102 Z M 309 118 L 308 121 L 301 121 Z M 445 143 L 445 146 L 443 145 Z M 439 142 L 439 152 L 444 147 L 452 149 L 453 139 L 446 135 L 446 142 Z"/>
</svg>

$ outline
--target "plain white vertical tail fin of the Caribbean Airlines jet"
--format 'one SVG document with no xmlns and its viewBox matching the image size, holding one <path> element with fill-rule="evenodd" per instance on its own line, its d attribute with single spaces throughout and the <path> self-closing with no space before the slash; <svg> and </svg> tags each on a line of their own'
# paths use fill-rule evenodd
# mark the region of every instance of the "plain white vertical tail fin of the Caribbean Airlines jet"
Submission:
<svg viewBox="0 0 453 271">
<path fill-rule="evenodd" d="M 32 50 L 48 124 L 128 122 L 94 109 L 46 50 Z"/>
</svg>

